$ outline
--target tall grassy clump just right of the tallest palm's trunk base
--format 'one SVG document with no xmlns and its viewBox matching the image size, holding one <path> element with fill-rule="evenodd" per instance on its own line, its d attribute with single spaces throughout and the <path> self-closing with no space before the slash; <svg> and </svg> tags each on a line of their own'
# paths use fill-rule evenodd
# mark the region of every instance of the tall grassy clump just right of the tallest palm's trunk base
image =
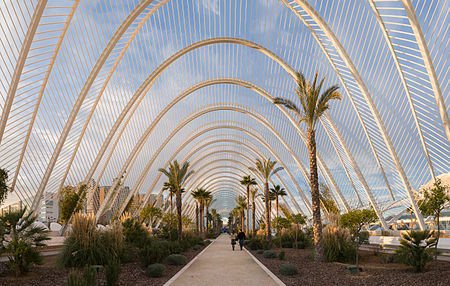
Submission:
<svg viewBox="0 0 450 286">
<path fill-rule="evenodd" d="M 325 261 L 353 262 L 356 247 L 348 229 L 326 226 L 323 232 Z"/>
</svg>

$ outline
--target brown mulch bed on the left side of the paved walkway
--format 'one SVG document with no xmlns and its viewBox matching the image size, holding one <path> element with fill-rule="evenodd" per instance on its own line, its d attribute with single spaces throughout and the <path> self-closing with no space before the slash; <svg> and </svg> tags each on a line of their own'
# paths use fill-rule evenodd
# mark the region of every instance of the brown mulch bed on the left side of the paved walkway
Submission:
<svg viewBox="0 0 450 286">
<path fill-rule="evenodd" d="M 192 250 L 182 252 L 186 256 L 188 262 L 202 251 Z M 70 269 L 55 268 L 56 257 L 45 257 L 44 265 L 35 266 L 31 271 L 22 277 L 16 278 L 6 269 L 6 263 L 0 263 L 0 286 L 57 286 L 67 284 L 67 275 Z M 120 285 L 125 286 L 143 286 L 143 285 L 164 285 L 184 266 L 167 265 L 164 276 L 160 278 L 150 278 L 145 275 L 145 267 L 140 262 L 130 262 L 121 265 Z M 106 285 L 104 273 L 100 272 L 98 277 L 98 285 Z"/>
</svg>

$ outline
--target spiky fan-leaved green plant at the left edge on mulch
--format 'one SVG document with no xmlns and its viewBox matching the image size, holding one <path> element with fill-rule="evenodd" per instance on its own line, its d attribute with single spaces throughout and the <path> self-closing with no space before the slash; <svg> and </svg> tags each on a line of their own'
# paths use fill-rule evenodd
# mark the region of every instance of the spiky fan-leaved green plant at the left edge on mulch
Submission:
<svg viewBox="0 0 450 286">
<path fill-rule="evenodd" d="M 9 259 L 9 268 L 16 275 L 24 274 L 33 264 L 42 263 L 42 255 L 36 247 L 45 246 L 48 240 L 48 230 L 34 227 L 36 217 L 26 208 L 6 213 L 0 217 L 2 234 L 1 252 L 6 253 Z"/>
</svg>

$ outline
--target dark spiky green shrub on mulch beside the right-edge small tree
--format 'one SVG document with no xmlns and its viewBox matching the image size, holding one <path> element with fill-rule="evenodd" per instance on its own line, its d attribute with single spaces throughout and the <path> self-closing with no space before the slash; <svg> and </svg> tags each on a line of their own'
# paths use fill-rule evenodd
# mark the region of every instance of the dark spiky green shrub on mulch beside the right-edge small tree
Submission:
<svg viewBox="0 0 450 286">
<path fill-rule="evenodd" d="M 422 272 L 433 260 L 436 237 L 434 231 L 408 231 L 402 234 L 400 247 L 396 250 L 396 261 L 412 266 L 415 272 Z"/>
</svg>

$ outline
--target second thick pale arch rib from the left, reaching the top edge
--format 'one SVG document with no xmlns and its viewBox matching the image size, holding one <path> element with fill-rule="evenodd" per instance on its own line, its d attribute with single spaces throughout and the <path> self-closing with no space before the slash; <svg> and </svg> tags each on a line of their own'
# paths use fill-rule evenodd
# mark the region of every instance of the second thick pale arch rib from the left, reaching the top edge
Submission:
<svg viewBox="0 0 450 286">
<path fill-rule="evenodd" d="M 33 204 L 31 206 L 31 210 L 33 211 L 33 213 L 36 213 L 36 211 L 37 211 L 37 208 L 41 201 L 42 192 L 44 191 L 45 187 L 47 186 L 47 182 L 50 179 L 51 173 L 53 172 L 53 168 L 56 164 L 56 161 L 59 158 L 59 154 L 61 153 L 64 143 L 66 142 L 67 136 L 69 135 L 69 132 L 72 129 L 73 123 L 75 122 L 75 119 L 78 115 L 81 105 L 83 104 L 84 99 L 87 96 L 87 93 L 89 92 L 90 88 L 92 87 L 92 84 L 94 83 L 95 78 L 97 77 L 98 73 L 100 72 L 101 68 L 103 67 L 103 64 L 108 59 L 109 54 L 112 52 L 112 50 L 114 49 L 116 44 L 121 39 L 122 35 L 126 32 L 128 27 L 131 26 L 131 24 L 134 22 L 134 20 L 141 14 L 141 12 L 144 11 L 144 9 L 148 5 L 150 5 L 151 2 L 153 2 L 153 0 L 142 0 L 138 5 L 136 5 L 136 7 L 133 9 L 133 11 L 122 22 L 120 27 L 117 29 L 117 31 L 114 33 L 112 38 L 109 40 L 108 44 L 106 45 L 106 47 L 103 50 L 102 54 L 100 55 L 99 59 L 95 63 L 93 70 L 89 74 L 88 79 L 86 80 L 83 88 L 81 89 L 80 94 L 78 95 L 78 98 L 77 98 L 74 106 L 72 107 L 70 115 L 67 118 L 67 122 L 64 125 L 63 131 L 61 132 L 61 136 L 58 138 L 58 143 L 56 144 L 55 150 L 53 151 L 52 157 L 50 158 L 50 161 L 47 165 L 44 176 L 43 176 L 41 183 L 39 185 L 39 188 L 37 190 L 37 194 L 33 200 Z"/>
</svg>

